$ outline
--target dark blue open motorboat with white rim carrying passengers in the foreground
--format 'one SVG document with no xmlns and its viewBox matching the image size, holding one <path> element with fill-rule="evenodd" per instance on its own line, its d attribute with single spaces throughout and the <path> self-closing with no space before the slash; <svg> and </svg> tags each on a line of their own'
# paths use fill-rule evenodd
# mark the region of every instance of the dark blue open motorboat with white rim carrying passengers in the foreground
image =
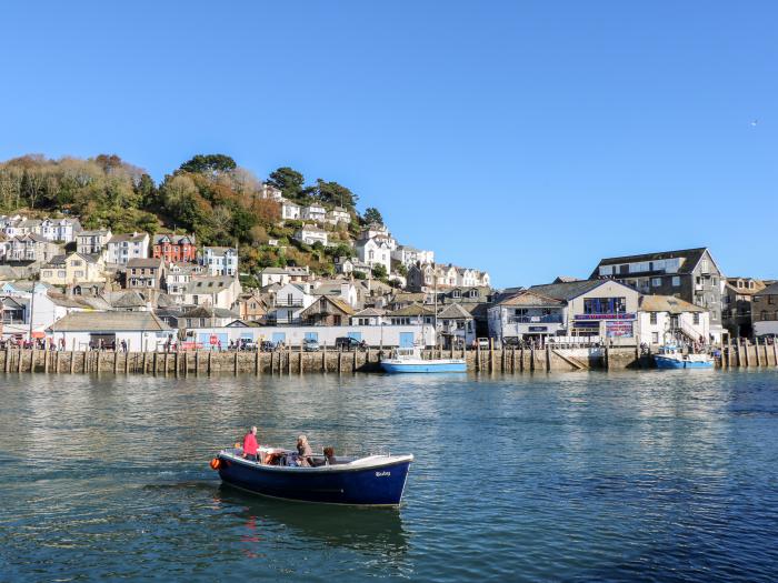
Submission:
<svg viewBox="0 0 778 583">
<path fill-rule="evenodd" d="M 265 496 L 365 506 L 397 506 L 406 487 L 412 454 L 337 458 L 327 463 L 312 455 L 312 466 L 297 465 L 296 451 L 260 448 L 259 458 L 272 454 L 265 464 L 243 458 L 240 448 L 221 450 L 211 460 L 222 482 Z"/>
</svg>

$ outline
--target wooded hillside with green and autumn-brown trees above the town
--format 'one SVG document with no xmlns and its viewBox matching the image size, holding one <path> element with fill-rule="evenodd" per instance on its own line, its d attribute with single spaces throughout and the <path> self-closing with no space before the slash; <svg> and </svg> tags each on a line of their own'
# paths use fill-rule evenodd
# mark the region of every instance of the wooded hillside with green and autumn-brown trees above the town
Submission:
<svg viewBox="0 0 778 583">
<path fill-rule="evenodd" d="M 266 198 L 270 188 L 300 204 L 341 207 L 351 223 L 326 225 L 332 242 L 327 248 L 300 243 L 292 235 L 302 222 L 281 221 L 280 204 Z M 337 182 L 306 184 L 291 168 L 279 168 L 262 181 L 223 154 L 196 155 L 159 184 L 117 155 L 50 160 L 31 154 L 0 163 L 0 213 L 76 215 L 84 229 L 109 227 L 114 233 L 194 233 L 198 245 L 237 245 L 246 273 L 287 264 L 332 273 L 333 258 L 351 254 L 360 222 L 380 221 L 376 209 L 360 217 L 357 200 Z"/>
</svg>

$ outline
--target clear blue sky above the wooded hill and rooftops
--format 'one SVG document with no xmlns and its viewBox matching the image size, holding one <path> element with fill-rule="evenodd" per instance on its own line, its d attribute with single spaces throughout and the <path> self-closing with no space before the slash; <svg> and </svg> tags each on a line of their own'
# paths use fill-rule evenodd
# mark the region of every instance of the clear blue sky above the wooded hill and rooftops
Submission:
<svg viewBox="0 0 778 583">
<path fill-rule="evenodd" d="M 3 7 L 0 159 L 291 165 L 499 287 L 698 245 L 778 278 L 776 2 L 117 4 Z"/>
</svg>

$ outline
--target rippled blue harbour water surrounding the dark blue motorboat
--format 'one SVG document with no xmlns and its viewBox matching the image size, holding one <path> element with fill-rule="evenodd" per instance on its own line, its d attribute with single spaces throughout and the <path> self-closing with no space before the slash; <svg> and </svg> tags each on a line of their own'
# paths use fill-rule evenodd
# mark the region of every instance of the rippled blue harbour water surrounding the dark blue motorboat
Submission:
<svg viewBox="0 0 778 583">
<path fill-rule="evenodd" d="M 770 581 L 778 373 L 0 375 L 0 581 Z M 399 511 L 221 486 L 243 428 L 412 452 Z"/>
</svg>

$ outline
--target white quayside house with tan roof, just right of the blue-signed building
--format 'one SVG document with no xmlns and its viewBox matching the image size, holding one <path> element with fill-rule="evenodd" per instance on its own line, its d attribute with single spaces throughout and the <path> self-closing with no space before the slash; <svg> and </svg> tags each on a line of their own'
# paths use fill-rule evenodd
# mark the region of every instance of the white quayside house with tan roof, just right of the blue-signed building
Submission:
<svg viewBox="0 0 778 583">
<path fill-rule="evenodd" d="M 638 342 L 669 344 L 671 342 L 710 341 L 710 313 L 672 295 L 641 295 L 638 309 Z"/>
</svg>

